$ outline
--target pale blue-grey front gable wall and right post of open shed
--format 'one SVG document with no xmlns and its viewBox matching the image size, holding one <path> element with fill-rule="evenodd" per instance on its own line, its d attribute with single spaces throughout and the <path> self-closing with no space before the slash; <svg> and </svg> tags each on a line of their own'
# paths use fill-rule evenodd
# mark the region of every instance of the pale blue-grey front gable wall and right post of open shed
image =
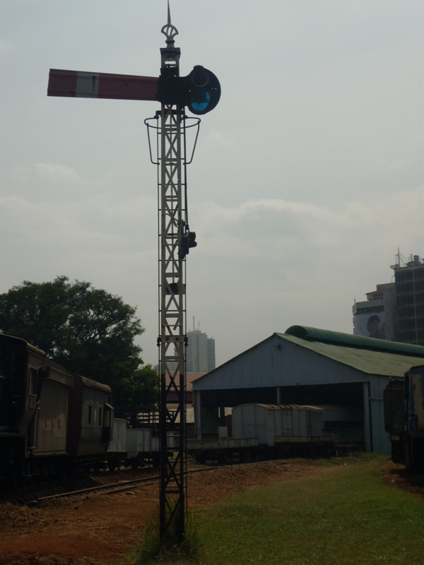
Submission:
<svg viewBox="0 0 424 565">
<path fill-rule="evenodd" d="M 259 343 L 252 349 L 231 359 L 222 367 L 218 367 L 206 374 L 198 381 L 194 381 L 193 390 L 201 405 L 212 408 L 220 405 L 222 400 L 216 400 L 218 391 L 231 391 L 232 396 L 239 396 L 240 401 L 246 401 L 248 391 L 255 389 L 257 395 L 254 400 L 258 403 L 276 403 L 281 398 L 285 403 L 284 388 L 293 387 L 301 389 L 303 386 L 323 386 L 328 384 L 369 383 L 365 390 L 369 391 L 369 432 L 367 446 L 377 453 L 389 455 L 390 442 L 387 432 L 384 431 L 383 391 L 389 382 L 389 376 L 365 374 L 363 371 L 350 367 L 317 352 L 301 347 L 287 340 L 281 340 L 277 335 Z M 278 391 L 278 387 L 281 387 Z M 269 393 L 259 393 L 269 391 Z M 265 398 L 266 397 L 266 398 Z M 270 398 L 273 400 L 269 400 Z M 279 398 L 278 398 L 279 397 Z M 348 403 L 348 399 L 346 399 Z M 358 400 L 365 410 L 365 397 Z M 235 405 L 237 403 L 232 403 Z M 228 404 L 230 405 L 230 404 Z M 198 410 L 198 413 L 202 410 Z M 198 435 L 201 425 L 197 424 Z M 211 432 L 211 429 L 208 429 Z M 365 432 L 366 433 L 366 432 Z"/>
</svg>

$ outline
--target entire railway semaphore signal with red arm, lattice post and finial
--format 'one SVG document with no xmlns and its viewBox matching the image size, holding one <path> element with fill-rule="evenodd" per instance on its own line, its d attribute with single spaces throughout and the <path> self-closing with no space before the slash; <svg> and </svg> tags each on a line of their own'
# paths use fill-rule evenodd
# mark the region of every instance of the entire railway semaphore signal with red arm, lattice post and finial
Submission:
<svg viewBox="0 0 424 565">
<path fill-rule="evenodd" d="M 158 78 L 50 69 L 47 95 L 161 103 L 160 112 L 146 120 L 148 131 L 156 131 L 158 147 L 160 536 L 166 542 L 177 533 L 182 542 L 187 505 L 185 261 L 189 249 L 196 246 L 196 234 L 188 225 L 186 168 L 193 154 L 187 153 L 186 131 L 190 126 L 199 128 L 200 123 L 198 118 L 187 117 L 185 108 L 195 115 L 210 112 L 218 104 L 220 84 L 202 66 L 179 76 L 180 50 L 174 40 L 178 31 L 170 20 L 169 3 L 162 32 L 166 47 L 160 49 Z M 169 410 L 170 403 L 177 404 L 177 409 Z"/>
</svg>

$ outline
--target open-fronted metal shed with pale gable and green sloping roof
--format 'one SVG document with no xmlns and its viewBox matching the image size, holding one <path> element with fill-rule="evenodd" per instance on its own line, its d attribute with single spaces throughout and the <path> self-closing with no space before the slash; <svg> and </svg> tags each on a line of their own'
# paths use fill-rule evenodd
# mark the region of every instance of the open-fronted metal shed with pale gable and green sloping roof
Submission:
<svg viewBox="0 0 424 565">
<path fill-rule="evenodd" d="M 206 429 L 218 418 L 218 408 L 222 415 L 223 408 L 246 402 L 310 404 L 305 400 L 312 397 L 328 404 L 333 396 L 336 403 L 363 411 L 367 449 L 389 453 L 384 388 L 389 378 L 402 378 L 419 364 L 424 347 L 292 326 L 196 379 L 196 418 L 209 418 Z M 196 424 L 200 433 L 201 423 Z"/>
</svg>

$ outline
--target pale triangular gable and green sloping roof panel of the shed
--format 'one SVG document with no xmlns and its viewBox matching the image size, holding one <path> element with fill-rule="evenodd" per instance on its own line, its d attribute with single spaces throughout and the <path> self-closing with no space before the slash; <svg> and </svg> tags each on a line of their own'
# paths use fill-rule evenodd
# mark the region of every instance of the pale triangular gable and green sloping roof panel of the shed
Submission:
<svg viewBox="0 0 424 565">
<path fill-rule="evenodd" d="M 310 343 L 291 335 L 270 338 L 193 383 L 193 390 L 363 381 L 364 373 L 404 376 L 418 357 Z"/>
</svg>

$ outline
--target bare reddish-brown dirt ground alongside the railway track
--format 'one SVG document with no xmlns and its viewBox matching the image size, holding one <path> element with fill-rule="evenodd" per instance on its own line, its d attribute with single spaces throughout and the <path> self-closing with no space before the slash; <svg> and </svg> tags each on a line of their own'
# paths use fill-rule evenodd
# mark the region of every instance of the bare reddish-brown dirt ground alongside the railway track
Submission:
<svg viewBox="0 0 424 565">
<path fill-rule="evenodd" d="M 188 477 L 189 507 L 205 506 L 242 489 L 312 474 L 305 460 L 234 465 Z M 119 473 L 116 480 L 134 478 Z M 424 477 L 389 463 L 383 482 L 424 497 Z M 134 547 L 158 501 L 156 485 L 119 494 L 90 494 L 42 506 L 0 506 L 0 565 L 98 565 L 114 563 Z"/>
</svg>

